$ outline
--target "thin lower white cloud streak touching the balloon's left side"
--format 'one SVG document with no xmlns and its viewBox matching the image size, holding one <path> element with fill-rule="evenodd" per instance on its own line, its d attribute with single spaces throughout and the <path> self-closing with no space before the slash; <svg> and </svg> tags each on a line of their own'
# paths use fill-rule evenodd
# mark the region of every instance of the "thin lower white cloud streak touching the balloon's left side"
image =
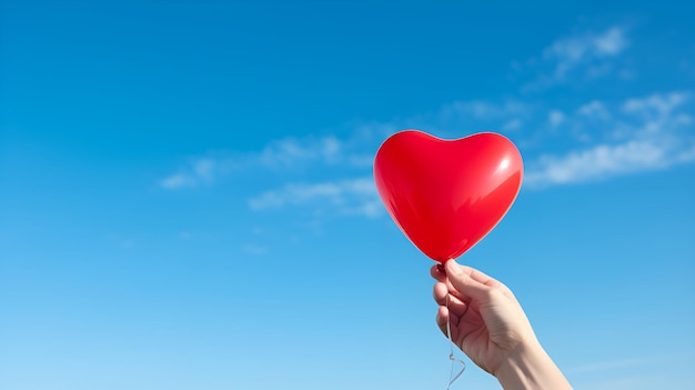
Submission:
<svg viewBox="0 0 695 390">
<path fill-rule="evenodd" d="M 372 178 L 322 183 L 289 183 L 282 189 L 263 192 L 249 199 L 253 210 L 286 206 L 329 204 L 340 213 L 375 217 L 381 213 L 381 200 Z"/>
</svg>

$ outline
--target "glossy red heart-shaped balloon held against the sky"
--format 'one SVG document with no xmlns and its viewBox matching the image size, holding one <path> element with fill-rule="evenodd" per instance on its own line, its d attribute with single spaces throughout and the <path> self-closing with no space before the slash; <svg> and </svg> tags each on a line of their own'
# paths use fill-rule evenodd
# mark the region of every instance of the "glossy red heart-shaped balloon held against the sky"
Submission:
<svg viewBox="0 0 695 390">
<path fill-rule="evenodd" d="M 523 171 L 514 143 L 491 132 L 450 141 L 401 131 L 374 160 L 386 210 L 415 247 L 440 262 L 463 254 L 502 220 Z"/>
</svg>

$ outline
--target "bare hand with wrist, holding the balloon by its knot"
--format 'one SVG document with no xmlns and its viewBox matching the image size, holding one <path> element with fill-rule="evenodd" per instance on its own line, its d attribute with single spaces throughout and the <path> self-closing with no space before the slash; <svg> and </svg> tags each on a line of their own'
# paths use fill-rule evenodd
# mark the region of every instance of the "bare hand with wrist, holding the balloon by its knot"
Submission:
<svg viewBox="0 0 695 390">
<path fill-rule="evenodd" d="M 437 326 L 446 334 L 449 321 L 452 341 L 504 389 L 572 389 L 506 286 L 453 260 L 431 273 Z"/>
</svg>

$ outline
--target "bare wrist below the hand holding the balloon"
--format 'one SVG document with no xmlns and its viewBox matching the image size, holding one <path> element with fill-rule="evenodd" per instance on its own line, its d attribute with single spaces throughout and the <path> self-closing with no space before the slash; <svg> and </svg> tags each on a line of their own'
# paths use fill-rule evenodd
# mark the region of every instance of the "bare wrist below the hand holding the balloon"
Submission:
<svg viewBox="0 0 695 390">
<path fill-rule="evenodd" d="M 495 377 L 504 390 L 572 390 L 572 386 L 540 343 L 520 344 Z"/>
</svg>

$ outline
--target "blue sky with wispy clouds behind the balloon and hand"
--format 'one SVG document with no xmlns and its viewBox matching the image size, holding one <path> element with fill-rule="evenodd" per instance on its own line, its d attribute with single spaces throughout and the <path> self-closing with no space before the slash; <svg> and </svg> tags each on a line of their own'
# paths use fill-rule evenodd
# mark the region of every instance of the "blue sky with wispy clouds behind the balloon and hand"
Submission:
<svg viewBox="0 0 695 390">
<path fill-rule="evenodd" d="M 460 262 L 577 389 L 692 387 L 695 10 L 615 3 L 3 1 L 0 388 L 444 389 L 407 128 L 518 146 Z"/>
</svg>

